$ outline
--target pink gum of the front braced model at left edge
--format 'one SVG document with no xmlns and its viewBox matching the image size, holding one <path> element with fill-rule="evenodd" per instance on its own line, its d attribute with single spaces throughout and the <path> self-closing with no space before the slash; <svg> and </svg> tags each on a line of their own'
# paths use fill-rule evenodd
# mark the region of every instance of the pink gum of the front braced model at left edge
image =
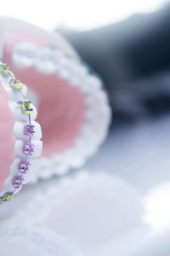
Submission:
<svg viewBox="0 0 170 256">
<path fill-rule="evenodd" d="M 0 192 L 9 175 L 9 167 L 14 161 L 15 137 L 12 133 L 14 116 L 8 107 L 8 94 L 0 83 Z"/>
</svg>

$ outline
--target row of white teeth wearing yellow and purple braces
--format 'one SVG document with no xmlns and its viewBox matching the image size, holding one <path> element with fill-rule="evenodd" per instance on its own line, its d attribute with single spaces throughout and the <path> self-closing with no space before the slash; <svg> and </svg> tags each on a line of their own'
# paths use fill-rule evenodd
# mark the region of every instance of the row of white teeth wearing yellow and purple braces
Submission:
<svg viewBox="0 0 170 256">
<path fill-rule="evenodd" d="M 15 159 L 10 166 L 10 174 L 0 193 L 0 203 L 5 203 L 19 192 L 22 185 L 31 179 L 31 166 L 42 152 L 42 131 L 40 125 L 34 121 L 37 109 L 26 100 L 27 88 L 0 61 L 0 81 L 8 93 L 8 106 L 14 115 L 13 134 L 15 137 Z"/>
</svg>

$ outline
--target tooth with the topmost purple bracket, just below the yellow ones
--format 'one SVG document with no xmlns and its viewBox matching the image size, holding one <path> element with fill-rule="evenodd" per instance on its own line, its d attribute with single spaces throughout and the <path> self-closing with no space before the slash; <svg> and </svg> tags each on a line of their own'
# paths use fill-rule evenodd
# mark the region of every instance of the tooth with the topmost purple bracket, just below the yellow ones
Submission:
<svg viewBox="0 0 170 256">
<path fill-rule="evenodd" d="M 17 121 L 14 124 L 13 133 L 17 139 L 22 139 L 28 141 L 29 136 L 26 135 L 25 127 L 29 125 L 29 122 L 20 122 Z M 33 125 L 33 136 L 31 137 L 33 140 L 39 140 L 42 138 L 42 130 L 41 126 L 35 122 L 31 121 L 31 125 Z"/>
</svg>

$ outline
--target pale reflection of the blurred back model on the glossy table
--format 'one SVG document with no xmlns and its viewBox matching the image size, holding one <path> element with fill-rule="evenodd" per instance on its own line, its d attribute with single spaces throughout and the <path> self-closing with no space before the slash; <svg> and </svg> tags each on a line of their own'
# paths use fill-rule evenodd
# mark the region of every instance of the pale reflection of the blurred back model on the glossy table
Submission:
<svg viewBox="0 0 170 256">
<path fill-rule="evenodd" d="M 97 255 L 99 250 L 104 256 L 103 244 L 122 239 L 129 230 L 142 239 L 148 230 L 138 193 L 114 175 L 82 171 L 27 187 L 12 201 L 18 210 L 2 224 L 46 227 L 80 247 L 84 255 Z M 112 250 L 118 248 L 111 246 Z"/>
</svg>

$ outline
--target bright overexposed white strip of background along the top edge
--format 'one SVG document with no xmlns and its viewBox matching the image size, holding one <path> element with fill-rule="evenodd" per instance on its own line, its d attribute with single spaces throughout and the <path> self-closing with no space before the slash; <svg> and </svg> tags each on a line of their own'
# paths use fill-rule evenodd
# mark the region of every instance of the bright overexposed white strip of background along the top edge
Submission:
<svg viewBox="0 0 170 256">
<path fill-rule="evenodd" d="M 10 4 L 9 4 L 10 3 Z M 100 26 L 116 23 L 136 13 L 150 13 L 165 3 L 163 0 L 144 0 L 137 3 L 124 1 L 9 1 L 3 2 L 1 15 L 10 15 L 29 21 L 37 26 L 53 30 L 56 26 L 67 26 L 87 31 Z M 50 19 L 49 19 L 50 17 Z"/>
</svg>

